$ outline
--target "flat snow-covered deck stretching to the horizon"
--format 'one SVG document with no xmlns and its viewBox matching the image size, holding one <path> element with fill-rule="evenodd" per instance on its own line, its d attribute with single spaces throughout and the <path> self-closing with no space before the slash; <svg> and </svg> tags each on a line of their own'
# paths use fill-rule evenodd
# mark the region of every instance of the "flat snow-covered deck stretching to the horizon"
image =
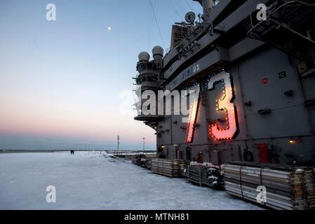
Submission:
<svg viewBox="0 0 315 224">
<path fill-rule="evenodd" d="M 116 161 L 116 162 L 114 162 Z M 55 186 L 56 202 L 46 202 Z M 0 209 L 260 209 L 100 152 L 0 154 Z"/>
</svg>

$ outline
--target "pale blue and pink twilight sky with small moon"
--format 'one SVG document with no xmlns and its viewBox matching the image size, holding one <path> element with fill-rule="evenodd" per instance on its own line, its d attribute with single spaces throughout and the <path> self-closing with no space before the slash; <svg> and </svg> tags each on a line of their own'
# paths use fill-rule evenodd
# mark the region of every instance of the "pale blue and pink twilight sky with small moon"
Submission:
<svg viewBox="0 0 315 224">
<path fill-rule="evenodd" d="M 151 2 L 161 36 L 149 0 L 0 0 L 0 149 L 114 149 L 118 134 L 123 149 L 142 149 L 142 137 L 155 149 L 154 130 L 120 96 L 133 90 L 138 53 L 168 48 L 173 22 L 202 8 Z"/>
</svg>

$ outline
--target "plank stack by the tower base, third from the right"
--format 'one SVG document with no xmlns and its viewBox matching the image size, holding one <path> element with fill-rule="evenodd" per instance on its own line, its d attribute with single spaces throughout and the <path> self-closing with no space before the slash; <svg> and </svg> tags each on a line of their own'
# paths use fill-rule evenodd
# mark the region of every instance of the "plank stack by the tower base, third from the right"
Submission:
<svg viewBox="0 0 315 224">
<path fill-rule="evenodd" d="M 185 169 L 186 160 L 154 159 L 151 161 L 151 171 L 164 176 L 177 177 Z"/>
</svg>

